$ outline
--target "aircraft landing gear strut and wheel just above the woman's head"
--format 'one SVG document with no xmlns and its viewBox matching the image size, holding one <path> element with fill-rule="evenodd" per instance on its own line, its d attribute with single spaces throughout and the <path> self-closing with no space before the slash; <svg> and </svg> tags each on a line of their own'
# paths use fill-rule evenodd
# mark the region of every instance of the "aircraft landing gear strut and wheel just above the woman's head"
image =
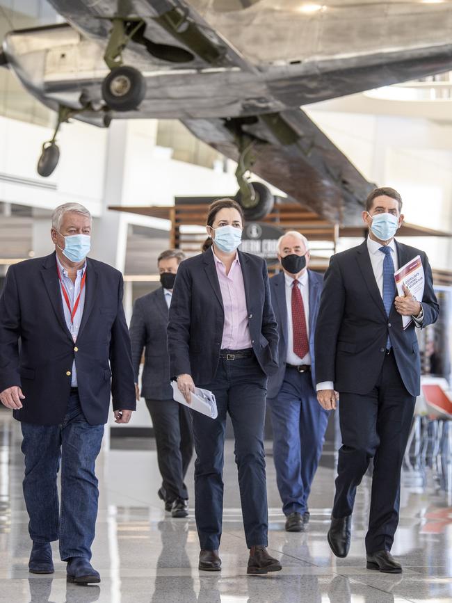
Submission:
<svg viewBox="0 0 452 603">
<path fill-rule="evenodd" d="M 261 182 L 250 182 L 249 172 L 255 162 L 253 147 L 255 140 L 248 136 L 241 136 L 239 148 L 241 149 L 239 162 L 237 163 L 236 179 L 239 184 L 239 192 L 235 200 L 243 208 L 245 220 L 261 220 L 273 209 L 275 198 L 265 184 Z"/>
</svg>

